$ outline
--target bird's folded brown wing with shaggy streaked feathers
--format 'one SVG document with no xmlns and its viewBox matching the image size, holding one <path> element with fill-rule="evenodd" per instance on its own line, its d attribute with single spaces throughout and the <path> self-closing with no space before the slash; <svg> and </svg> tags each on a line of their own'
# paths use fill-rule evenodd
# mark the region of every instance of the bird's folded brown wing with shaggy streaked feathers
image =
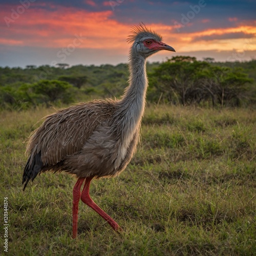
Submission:
<svg viewBox="0 0 256 256">
<path fill-rule="evenodd" d="M 67 155 L 79 152 L 93 131 L 113 115 L 112 100 L 94 100 L 59 110 L 45 118 L 27 145 L 31 159 L 41 152 L 44 165 L 55 165 Z"/>
</svg>

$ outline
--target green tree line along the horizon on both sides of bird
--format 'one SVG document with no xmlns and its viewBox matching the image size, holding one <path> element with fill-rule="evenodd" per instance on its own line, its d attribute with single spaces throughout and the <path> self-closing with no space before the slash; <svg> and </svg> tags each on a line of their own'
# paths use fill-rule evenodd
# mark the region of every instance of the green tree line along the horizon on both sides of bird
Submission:
<svg viewBox="0 0 256 256">
<path fill-rule="evenodd" d="M 39 104 L 119 97 L 127 86 L 126 64 L 62 64 L 0 68 L 0 108 L 26 109 Z M 255 104 L 255 71 L 255 60 L 217 63 L 211 58 L 198 61 L 195 57 L 175 56 L 163 63 L 147 63 L 147 100 L 212 107 Z"/>
</svg>

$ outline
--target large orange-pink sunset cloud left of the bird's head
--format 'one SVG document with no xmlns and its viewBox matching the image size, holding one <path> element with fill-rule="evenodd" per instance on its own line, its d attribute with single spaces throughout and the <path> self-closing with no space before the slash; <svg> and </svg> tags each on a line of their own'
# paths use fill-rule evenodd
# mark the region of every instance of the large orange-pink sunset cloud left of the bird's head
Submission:
<svg viewBox="0 0 256 256">
<path fill-rule="evenodd" d="M 8 15 L 3 11 L 0 14 Z M 57 48 L 71 44 L 78 34 L 83 37 L 79 47 L 113 49 L 125 44 L 125 38 L 120 35 L 126 35 L 129 26 L 117 23 L 111 15 L 112 11 L 88 12 L 72 8 L 28 9 L 10 23 L 9 28 L 2 20 L 0 39 L 5 38 L 8 45 L 18 42 L 24 46 Z"/>
</svg>

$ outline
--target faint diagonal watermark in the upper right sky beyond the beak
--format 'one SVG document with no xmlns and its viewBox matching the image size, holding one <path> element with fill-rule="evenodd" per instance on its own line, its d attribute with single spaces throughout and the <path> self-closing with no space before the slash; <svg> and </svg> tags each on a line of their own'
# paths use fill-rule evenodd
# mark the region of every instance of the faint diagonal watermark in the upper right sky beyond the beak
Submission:
<svg viewBox="0 0 256 256">
<path fill-rule="evenodd" d="M 180 32 L 180 29 L 184 28 L 190 22 L 191 19 L 195 18 L 196 14 L 198 14 L 201 11 L 201 8 L 205 6 L 205 0 L 199 0 L 197 5 L 190 5 L 190 10 L 186 13 L 186 15 L 184 13 L 181 14 L 180 22 L 174 22 L 176 30 Z"/>
</svg>

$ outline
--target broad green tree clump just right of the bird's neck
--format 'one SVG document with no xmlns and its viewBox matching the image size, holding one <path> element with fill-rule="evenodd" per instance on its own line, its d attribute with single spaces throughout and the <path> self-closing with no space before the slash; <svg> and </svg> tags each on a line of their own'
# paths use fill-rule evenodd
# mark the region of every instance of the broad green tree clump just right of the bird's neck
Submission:
<svg viewBox="0 0 256 256">
<path fill-rule="evenodd" d="M 247 84 L 253 81 L 242 69 L 214 66 L 189 56 L 168 59 L 149 78 L 150 97 L 153 93 L 182 105 L 210 100 L 212 106 L 240 105 Z"/>
</svg>

